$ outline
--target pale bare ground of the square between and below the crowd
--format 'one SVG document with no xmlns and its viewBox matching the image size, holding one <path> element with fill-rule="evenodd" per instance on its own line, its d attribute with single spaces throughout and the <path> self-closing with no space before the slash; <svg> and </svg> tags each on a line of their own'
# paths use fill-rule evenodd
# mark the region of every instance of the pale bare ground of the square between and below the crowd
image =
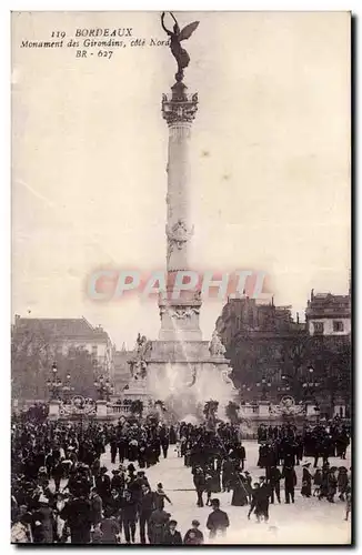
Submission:
<svg viewBox="0 0 362 555">
<path fill-rule="evenodd" d="M 259 445 L 255 441 L 244 441 L 247 451 L 248 470 L 253 480 L 263 475 L 263 470 L 257 466 Z M 118 467 L 110 462 L 109 447 L 102 456 L 102 464 L 109 471 Z M 311 462 L 311 457 L 305 457 L 303 463 Z M 137 466 L 137 463 L 133 463 Z M 330 458 L 330 464 L 335 466 L 351 465 L 350 447 L 346 454 L 346 461 L 340 458 Z M 253 515 L 248 521 L 249 507 L 231 506 L 230 493 L 214 494 L 221 502 L 221 508 L 225 511 L 230 518 L 230 528 L 223 543 L 228 544 L 349 544 L 351 541 L 351 523 L 344 521 L 345 503 L 335 496 L 335 503 L 329 503 L 325 500 L 319 501 L 316 497 L 303 498 L 300 494 L 302 466 L 295 466 L 298 475 L 298 485 L 295 491 L 295 503 L 284 504 L 283 481 L 281 483 L 281 501 L 279 505 L 270 506 L 269 523 L 255 522 Z M 200 529 L 203 532 L 207 543 L 208 531 L 205 522 L 210 513 L 210 507 L 197 506 L 197 494 L 194 492 L 191 468 L 183 464 L 183 458 L 179 458 L 171 445 L 167 460 L 160 458 L 160 463 L 147 470 L 147 476 L 151 487 L 155 488 L 158 482 L 162 482 L 167 494 L 172 501 L 172 505 L 165 502 L 165 511 L 170 512 L 172 517 L 178 521 L 178 528 L 181 535 L 191 527 L 191 521 L 198 518 L 201 523 Z M 221 542 L 219 539 L 219 542 Z"/>
</svg>

